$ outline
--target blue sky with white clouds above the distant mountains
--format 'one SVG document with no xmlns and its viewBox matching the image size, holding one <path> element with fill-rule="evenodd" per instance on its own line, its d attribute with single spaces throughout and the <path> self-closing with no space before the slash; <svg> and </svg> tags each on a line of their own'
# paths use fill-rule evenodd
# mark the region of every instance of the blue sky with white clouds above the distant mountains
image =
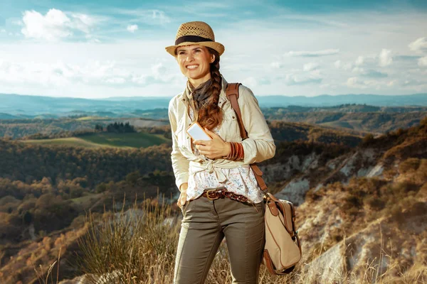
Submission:
<svg viewBox="0 0 427 284">
<path fill-rule="evenodd" d="M 124 2 L 124 3 L 123 3 Z M 164 47 L 206 21 L 256 95 L 427 92 L 427 1 L 0 1 L 0 93 L 172 96 Z"/>
</svg>

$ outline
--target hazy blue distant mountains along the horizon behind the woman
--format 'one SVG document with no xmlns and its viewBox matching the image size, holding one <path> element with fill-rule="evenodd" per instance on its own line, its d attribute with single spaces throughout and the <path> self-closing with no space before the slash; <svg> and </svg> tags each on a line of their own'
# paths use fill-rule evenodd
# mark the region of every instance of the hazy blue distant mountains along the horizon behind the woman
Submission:
<svg viewBox="0 0 427 284">
<path fill-rule="evenodd" d="M 376 95 L 342 94 L 337 96 L 320 95 L 317 97 L 257 97 L 260 107 L 332 107 L 338 104 L 369 104 L 377 107 L 427 106 L 427 94 Z M 38 116 L 49 117 L 78 114 L 100 114 L 123 116 L 134 111 L 147 109 L 166 109 L 171 97 L 110 97 L 107 99 L 77 99 L 28 96 L 19 94 L 0 94 L 0 113 L 2 116 Z M 132 115 L 133 114 L 133 115 Z M 0 116 L 1 119 L 1 116 Z"/>
</svg>

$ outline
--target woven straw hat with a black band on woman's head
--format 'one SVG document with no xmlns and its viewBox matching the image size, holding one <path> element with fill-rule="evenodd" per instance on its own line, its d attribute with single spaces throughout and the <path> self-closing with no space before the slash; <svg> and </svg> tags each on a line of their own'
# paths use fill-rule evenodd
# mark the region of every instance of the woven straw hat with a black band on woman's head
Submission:
<svg viewBox="0 0 427 284">
<path fill-rule="evenodd" d="M 225 49 L 224 45 L 216 43 L 211 26 L 200 21 L 182 23 L 176 32 L 175 45 L 168 46 L 166 51 L 176 57 L 175 50 L 182 45 L 204 45 L 218 51 L 219 55 Z"/>
</svg>

